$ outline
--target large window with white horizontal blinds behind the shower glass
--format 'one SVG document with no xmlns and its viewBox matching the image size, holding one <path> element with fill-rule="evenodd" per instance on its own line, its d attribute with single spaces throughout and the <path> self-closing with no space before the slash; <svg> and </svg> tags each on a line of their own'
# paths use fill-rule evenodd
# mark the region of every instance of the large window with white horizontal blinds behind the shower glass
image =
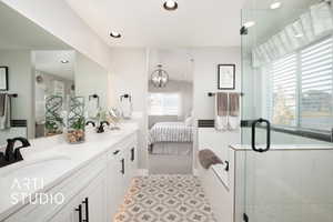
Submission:
<svg viewBox="0 0 333 222">
<path fill-rule="evenodd" d="M 270 119 L 307 130 L 333 128 L 333 38 L 271 64 Z"/>
</svg>

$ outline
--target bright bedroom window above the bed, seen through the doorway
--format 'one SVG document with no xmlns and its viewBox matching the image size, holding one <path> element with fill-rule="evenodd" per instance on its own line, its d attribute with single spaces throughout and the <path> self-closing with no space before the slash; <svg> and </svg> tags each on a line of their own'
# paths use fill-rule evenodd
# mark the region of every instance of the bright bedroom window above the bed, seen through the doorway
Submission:
<svg viewBox="0 0 333 222">
<path fill-rule="evenodd" d="M 179 93 L 150 93 L 149 95 L 150 115 L 179 115 Z"/>
</svg>

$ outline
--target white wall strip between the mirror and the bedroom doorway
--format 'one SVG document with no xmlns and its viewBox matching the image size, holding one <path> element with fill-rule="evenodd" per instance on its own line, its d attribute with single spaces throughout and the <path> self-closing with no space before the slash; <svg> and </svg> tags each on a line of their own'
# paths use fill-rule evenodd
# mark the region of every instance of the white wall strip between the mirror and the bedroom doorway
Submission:
<svg viewBox="0 0 333 222">
<path fill-rule="evenodd" d="M 119 98 L 124 93 L 132 97 L 133 119 L 140 124 L 139 168 L 148 169 L 148 56 L 145 49 L 113 49 L 111 53 L 111 88 L 114 90 L 112 104 L 119 107 Z"/>
</svg>

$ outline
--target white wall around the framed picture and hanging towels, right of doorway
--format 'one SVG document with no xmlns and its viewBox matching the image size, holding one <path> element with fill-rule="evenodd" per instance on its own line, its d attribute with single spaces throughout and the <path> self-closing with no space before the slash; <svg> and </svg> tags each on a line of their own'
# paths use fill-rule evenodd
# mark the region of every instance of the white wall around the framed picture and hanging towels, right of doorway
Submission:
<svg viewBox="0 0 333 222">
<path fill-rule="evenodd" d="M 214 119 L 215 100 L 212 97 L 208 97 L 209 92 L 218 92 L 218 64 L 235 64 L 235 90 L 234 92 L 241 92 L 241 48 L 199 48 L 193 49 L 194 57 L 194 77 L 193 77 L 193 101 L 194 101 L 194 118 L 195 122 L 199 119 Z M 218 132 L 214 138 L 214 144 L 210 149 L 215 150 L 216 154 L 220 154 L 219 150 L 226 150 L 231 143 L 240 143 L 240 131 L 233 132 Z M 198 132 L 200 133 L 200 131 Z M 196 150 L 200 144 L 194 140 L 194 149 Z M 203 149 L 203 148 L 201 148 Z M 223 155 L 223 154 L 222 154 Z M 222 159 L 224 157 L 221 157 Z M 196 159 L 196 152 L 194 152 L 194 160 Z M 194 161 L 194 164 L 198 164 Z M 194 167 L 196 168 L 196 167 Z"/>
</svg>

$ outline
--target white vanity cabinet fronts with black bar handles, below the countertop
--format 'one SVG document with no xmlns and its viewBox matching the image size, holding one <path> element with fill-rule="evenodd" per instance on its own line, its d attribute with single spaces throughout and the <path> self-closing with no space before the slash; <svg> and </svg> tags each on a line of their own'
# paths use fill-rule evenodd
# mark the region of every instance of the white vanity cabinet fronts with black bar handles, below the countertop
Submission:
<svg viewBox="0 0 333 222">
<path fill-rule="evenodd" d="M 0 221 L 112 222 L 135 171 L 137 133 L 132 133 L 44 191 L 62 193 L 62 204 L 28 204 Z"/>
</svg>

